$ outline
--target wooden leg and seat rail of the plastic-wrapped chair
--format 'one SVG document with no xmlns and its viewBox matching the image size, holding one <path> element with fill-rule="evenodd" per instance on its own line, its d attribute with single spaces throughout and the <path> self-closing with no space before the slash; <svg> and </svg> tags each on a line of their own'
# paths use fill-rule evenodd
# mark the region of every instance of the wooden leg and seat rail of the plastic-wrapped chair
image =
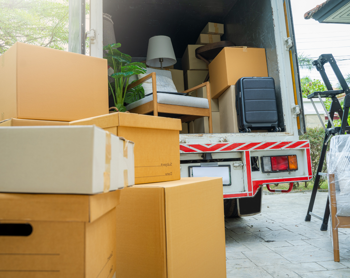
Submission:
<svg viewBox="0 0 350 278">
<path fill-rule="evenodd" d="M 330 213 L 332 219 L 332 240 L 334 261 L 339 262 L 339 238 L 338 228 L 350 228 L 350 217 L 337 216 L 337 200 L 335 196 L 335 178 L 334 174 L 328 174 L 330 189 Z"/>
</svg>

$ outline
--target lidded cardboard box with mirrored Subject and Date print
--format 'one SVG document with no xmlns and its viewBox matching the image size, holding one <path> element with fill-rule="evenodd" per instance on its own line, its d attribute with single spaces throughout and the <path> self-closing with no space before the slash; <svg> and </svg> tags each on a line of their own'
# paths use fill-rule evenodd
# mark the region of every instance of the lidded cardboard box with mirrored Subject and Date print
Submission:
<svg viewBox="0 0 350 278">
<path fill-rule="evenodd" d="M 135 142 L 135 184 L 180 180 L 180 119 L 116 112 L 69 124 L 94 124 Z"/>
</svg>

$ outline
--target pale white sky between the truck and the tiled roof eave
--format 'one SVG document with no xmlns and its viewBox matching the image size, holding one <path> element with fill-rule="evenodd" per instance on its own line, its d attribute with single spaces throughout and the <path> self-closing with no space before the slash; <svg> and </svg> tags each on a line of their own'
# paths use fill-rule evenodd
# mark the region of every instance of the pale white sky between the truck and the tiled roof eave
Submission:
<svg viewBox="0 0 350 278">
<path fill-rule="evenodd" d="M 292 5 L 294 32 L 298 54 L 304 53 L 315 60 L 321 54 L 333 54 L 338 67 L 345 76 L 350 73 L 350 24 L 319 23 L 314 19 L 304 19 L 304 14 L 325 0 L 290 0 Z M 329 63 L 325 72 L 336 86 L 338 80 Z M 301 70 L 300 77 L 322 80 L 316 69 Z"/>
</svg>

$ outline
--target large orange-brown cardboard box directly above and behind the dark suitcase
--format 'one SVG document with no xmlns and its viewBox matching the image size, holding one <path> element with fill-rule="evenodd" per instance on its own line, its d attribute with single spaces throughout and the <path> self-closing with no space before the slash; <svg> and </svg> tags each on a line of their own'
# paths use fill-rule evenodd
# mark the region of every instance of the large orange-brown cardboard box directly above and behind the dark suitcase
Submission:
<svg viewBox="0 0 350 278">
<path fill-rule="evenodd" d="M 264 48 L 224 47 L 209 64 L 210 92 L 218 98 L 237 80 L 246 76 L 267 77 Z"/>
</svg>

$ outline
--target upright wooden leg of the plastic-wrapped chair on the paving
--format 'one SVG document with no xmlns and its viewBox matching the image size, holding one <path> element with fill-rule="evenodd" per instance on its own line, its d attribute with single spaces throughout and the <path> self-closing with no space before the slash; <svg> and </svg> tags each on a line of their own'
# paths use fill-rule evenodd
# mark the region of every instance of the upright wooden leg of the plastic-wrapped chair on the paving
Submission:
<svg viewBox="0 0 350 278">
<path fill-rule="evenodd" d="M 329 189 L 330 189 L 330 210 L 332 218 L 332 240 L 333 240 L 333 256 L 334 261 L 339 262 L 339 238 L 338 238 L 338 220 L 337 220 L 337 200 L 335 197 L 335 180 L 334 174 L 329 174 Z"/>
</svg>

